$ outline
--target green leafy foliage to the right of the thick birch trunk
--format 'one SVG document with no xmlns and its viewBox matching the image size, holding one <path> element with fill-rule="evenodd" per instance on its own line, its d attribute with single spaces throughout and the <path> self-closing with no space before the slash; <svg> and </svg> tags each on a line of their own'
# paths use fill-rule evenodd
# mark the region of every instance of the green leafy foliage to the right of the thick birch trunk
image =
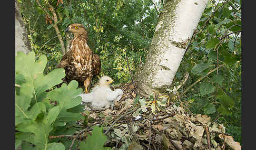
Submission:
<svg viewBox="0 0 256 150">
<path fill-rule="evenodd" d="M 216 70 L 220 65 L 223 67 Z M 183 97 L 191 103 L 190 110 L 208 114 L 213 121 L 229 126 L 235 130 L 235 141 L 241 142 L 240 1 L 208 2 L 177 71 L 185 72 L 190 76 L 184 87 L 202 79 Z M 179 85 L 181 79 L 176 74 L 173 84 Z M 182 90 L 185 88 L 179 92 Z"/>
</svg>

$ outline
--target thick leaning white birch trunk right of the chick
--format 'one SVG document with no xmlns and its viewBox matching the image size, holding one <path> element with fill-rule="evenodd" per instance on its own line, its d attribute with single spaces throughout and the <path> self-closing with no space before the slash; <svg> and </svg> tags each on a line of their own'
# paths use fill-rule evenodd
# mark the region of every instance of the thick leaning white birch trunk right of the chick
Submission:
<svg viewBox="0 0 256 150">
<path fill-rule="evenodd" d="M 139 77 L 146 94 L 163 93 L 172 84 L 208 0 L 166 0 Z"/>
</svg>

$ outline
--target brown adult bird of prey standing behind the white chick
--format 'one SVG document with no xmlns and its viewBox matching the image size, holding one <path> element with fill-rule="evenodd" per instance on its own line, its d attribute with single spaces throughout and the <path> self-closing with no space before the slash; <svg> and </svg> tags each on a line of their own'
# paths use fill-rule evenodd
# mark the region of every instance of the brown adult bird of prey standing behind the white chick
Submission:
<svg viewBox="0 0 256 150">
<path fill-rule="evenodd" d="M 76 80 L 80 85 L 84 84 L 85 93 L 90 90 L 93 76 L 101 71 L 101 59 L 92 53 L 88 47 L 88 31 L 81 24 L 72 24 L 66 31 L 73 33 L 68 51 L 62 57 L 56 68 L 64 68 L 66 76 L 63 79 L 69 83 Z"/>
</svg>

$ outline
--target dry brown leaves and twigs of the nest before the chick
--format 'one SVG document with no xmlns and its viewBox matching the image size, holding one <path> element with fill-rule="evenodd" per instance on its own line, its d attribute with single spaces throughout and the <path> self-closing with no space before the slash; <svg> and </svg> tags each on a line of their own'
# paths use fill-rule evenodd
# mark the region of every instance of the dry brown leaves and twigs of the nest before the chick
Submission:
<svg viewBox="0 0 256 150">
<path fill-rule="evenodd" d="M 241 149 L 240 143 L 225 134 L 223 124 L 210 122 L 207 115 L 191 114 L 175 104 L 156 114 L 152 114 L 150 108 L 143 112 L 140 105 L 133 104 L 136 97 L 134 84 L 111 88 L 123 90 L 121 100 L 110 109 L 91 108 L 88 116 L 93 121 L 88 123 L 87 128 L 103 125 L 103 132 L 108 131 L 109 140 L 105 146 L 116 149 L 223 149 L 229 141 L 227 145 L 232 149 Z M 133 108 L 137 110 L 124 115 Z"/>
</svg>

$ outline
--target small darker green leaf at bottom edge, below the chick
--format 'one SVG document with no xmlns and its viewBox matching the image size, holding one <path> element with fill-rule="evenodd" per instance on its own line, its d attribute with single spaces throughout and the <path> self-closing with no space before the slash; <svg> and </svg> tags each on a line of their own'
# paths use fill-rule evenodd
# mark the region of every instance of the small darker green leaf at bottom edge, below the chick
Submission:
<svg viewBox="0 0 256 150">
<path fill-rule="evenodd" d="M 103 147 L 107 137 L 102 133 L 103 127 L 94 126 L 92 135 L 88 135 L 88 138 L 85 142 L 81 142 L 80 149 L 81 150 L 101 150 L 101 149 L 111 149 L 110 147 Z"/>
</svg>

